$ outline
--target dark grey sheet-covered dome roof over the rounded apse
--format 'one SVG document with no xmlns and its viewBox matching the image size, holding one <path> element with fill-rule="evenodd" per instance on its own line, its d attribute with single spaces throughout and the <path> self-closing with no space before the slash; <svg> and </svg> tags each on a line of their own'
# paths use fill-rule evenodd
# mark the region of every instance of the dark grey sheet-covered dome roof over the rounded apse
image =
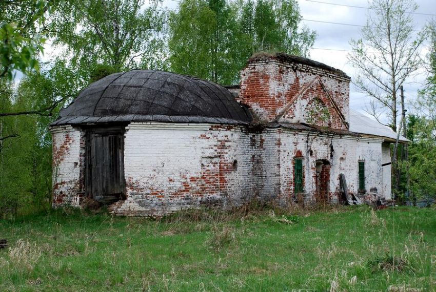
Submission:
<svg viewBox="0 0 436 292">
<path fill-rule="evenodd" d="M 181 74 L 132 70 L 106 76 L 62 109 L 52 126 L 130 121 L 247 124 L 252 120 L 224 87 Z"/>
</svg>

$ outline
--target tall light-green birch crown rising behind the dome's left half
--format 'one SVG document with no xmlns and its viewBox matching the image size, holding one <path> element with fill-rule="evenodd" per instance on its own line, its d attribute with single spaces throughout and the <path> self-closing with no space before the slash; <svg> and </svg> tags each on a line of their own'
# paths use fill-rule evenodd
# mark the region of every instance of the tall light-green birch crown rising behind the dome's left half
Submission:
<svg viewBox="0 0 436 292">
<path fill-rule="evenodd" d="M 163 50 L 166 11 L 160 1 L 144 5 L 144 0 L 70 0 L 50 16 L 54 45 L 68 48 L 64 58 L 84 78 L 97 64 L 116 72 L 137 68 L 142 56 Z"/>
</svg>

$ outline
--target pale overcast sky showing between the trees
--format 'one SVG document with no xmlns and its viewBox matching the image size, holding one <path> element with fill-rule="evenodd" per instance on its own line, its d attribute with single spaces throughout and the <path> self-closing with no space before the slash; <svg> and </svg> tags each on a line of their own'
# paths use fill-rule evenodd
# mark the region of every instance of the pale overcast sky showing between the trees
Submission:
<svg viewBox="0 0 436 292">
<path fill-rule="evenodd" d="M 361 27 L 348 25 L 335 25 L 321 22 L 334 22 L 351 25 L 365 25 L 369 9 L 346 7 L 340 5 L 351 5 L 368 7 L 366 0 L 298 0 L 300 11 L 303 16 L 303 23 L 310 29 L 316 31 L 316 40 L 313 49 L 310 50 L 310 58 L 323 62 L 334 68 L 343 70 L 349 76 L 353 77 L 354 69 L 347 63 L 347 50 L 350 50 L 349 41 L 351 38 L 359 38 Z M 333 3 L 339 5 L 329 5 L 324 3 Z M 419 8 L 415 12 L 422 12 L 436 15 L 436 0 L 415 0 Z M 163 5 L 169 9 L 175 9 L 179 3 L 174 0 L 164 0 Z M 432 16 L 413 14 L 415 29 L 420 30 Z M 436 16 L 434 16 L 436 17 Z M 309 20 L 316 20 L 313 22 Z M 329 50 L 325 50 L 329 49 Z M 345 51 L 344 51 L 345 50 Z M 47 60 L 56 49 L 46 44 L 46 55 L 43 59 Z M 425 52 L 424 52 L 425 53 Z M 423 72 L 424 73 L 424 72 Z M 406 107 L 411 110 L 410 101 L 417 96 L 417 90 L 422 88 L 425 81 L 425 74 L 419 74 L 417 77 L 409 80 L 404 85 L 406 96 Z M 21 76 L 20 76 L 21 77 Z M 368 105 L 368 98 L 357 92 L 353 86 L 350 88 L 350 107 L 355 110 L 364 112 Z"/>
</svg>

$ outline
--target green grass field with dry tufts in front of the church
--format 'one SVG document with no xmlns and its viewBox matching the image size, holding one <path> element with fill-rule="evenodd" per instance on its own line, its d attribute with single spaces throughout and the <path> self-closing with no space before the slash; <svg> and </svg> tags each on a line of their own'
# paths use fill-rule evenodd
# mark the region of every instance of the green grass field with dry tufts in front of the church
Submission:
<svg viewBox="0 0 436 292">
<path fill-rule="evenodd" d="M 436 210 L 72 210 L 0 221 L 1 291 L 436 290 Z"/>
</svg>

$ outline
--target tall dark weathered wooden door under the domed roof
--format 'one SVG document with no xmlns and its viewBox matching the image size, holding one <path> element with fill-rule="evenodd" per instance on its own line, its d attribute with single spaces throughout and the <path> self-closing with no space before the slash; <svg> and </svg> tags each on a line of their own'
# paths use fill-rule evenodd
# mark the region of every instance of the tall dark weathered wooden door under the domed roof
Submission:
<svg viewBox="0 0 436 292">
<path fill-rule="evenodd" d="M 91 129 L 86 139 L 87 195 L 102 203 L 120 200 L 125 192 L 124 128 Z"/>
</svg>

